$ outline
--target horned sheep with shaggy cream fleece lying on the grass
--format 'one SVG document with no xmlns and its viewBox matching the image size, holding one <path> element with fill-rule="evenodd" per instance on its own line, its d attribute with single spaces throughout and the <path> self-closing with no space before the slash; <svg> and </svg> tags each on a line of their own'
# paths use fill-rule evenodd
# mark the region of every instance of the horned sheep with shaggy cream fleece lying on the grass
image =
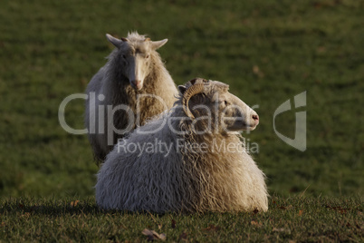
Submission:
<svg viewBox="0 0 364 243">
<path fill-rule="evenodd" d="M 259 117 L 228 85 L 196 78 L 175 106 L 120 140 L 97 174 L 101 209 L 266 211 L 265 176 L 238 131 Z"/>
</svg>

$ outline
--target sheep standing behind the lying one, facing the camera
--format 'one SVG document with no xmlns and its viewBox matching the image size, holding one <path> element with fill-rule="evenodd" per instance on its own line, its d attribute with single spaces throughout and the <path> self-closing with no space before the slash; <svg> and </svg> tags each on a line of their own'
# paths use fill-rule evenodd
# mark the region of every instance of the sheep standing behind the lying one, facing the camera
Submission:
<svg viewBox="0 0 364 243">
<path fill-rule="evenodd" d="M 153 42 L 137 32 L 106 37 L 116 48 L 86 88 L 84 120 L 94 158 L 101 161 L 118 139 L 177 100 L 176 84 L 156 52 L 168 39 Z"/>
</svg>

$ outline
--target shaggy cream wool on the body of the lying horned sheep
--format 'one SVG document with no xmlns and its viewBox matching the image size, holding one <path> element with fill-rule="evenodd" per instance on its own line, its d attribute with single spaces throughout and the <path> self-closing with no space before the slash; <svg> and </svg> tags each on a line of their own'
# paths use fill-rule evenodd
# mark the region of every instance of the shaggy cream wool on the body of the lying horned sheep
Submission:
<svg viewBox="0 0 364 243">
<path fill-rule="evenodd" d="M 201 96 L 205 101 L 214 91 L 224 92 L 224 88 L 217 89 L 220 83 L 210 83 L 211 90 Z M 231 95 L 231 101 L 244 105 L 234 95 L 228 92 L 224 95 Z M 181 98 L 177 104 L 180 103 Z M 186 118 L 186 114 L 176 106 L 131 132 L 114 147 L 98 173 L 95 186 L 97 204 L 102 209 L 158 213 L 266 211 L 268 193 L 264 174 L 242 147 L 240 136 L 236 132 L 197 135 L 190 129 L 191 123 L 180 118 Z M 175 131 L 189 133 L 178 135 Z M 209 145 L 207 151 L 194 152 L 188 146 L 193 142 L 205 142 Z M 241 150 L 216 150 L 224 142 Z M 138 144 L 139 149 L 134 151 Z M 146 148 L 148 144 L 157 147 L 158 144 L 168 144 L 171 149 L 168 154 L 162 150 L 140 152 L 142 146 Z"/>
</svg>

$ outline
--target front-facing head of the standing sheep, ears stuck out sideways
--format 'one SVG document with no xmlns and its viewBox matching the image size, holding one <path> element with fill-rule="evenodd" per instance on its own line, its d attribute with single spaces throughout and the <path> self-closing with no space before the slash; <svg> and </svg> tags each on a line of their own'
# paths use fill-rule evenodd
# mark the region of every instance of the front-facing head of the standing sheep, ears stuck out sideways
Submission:
<svg viewBox="0 0 364 243">
<path fill-rule="evenodd" d="M 141 90 L 144 80 L 150 73 L 151 57 L 154 52 L 166 44 L 168 39 L 152 42 L 144 35 L 131 33 L 127 38 L 115 38 L 110 34 L 106 37 L 116 48 L 120 57 L 120 71 L 129 79 L 131 87 Z"/>
</svg>

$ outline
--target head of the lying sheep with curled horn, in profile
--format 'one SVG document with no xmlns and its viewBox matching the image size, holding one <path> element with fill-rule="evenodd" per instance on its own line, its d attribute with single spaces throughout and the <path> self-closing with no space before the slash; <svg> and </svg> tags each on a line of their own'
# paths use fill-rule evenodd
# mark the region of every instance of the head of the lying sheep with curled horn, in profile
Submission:
<svg viewBox="0 0 364 243">
<path fill-rule="evenodd" d="M 194 122 L 206 120 L 221 131 L 254 130 L 259 116 L 234 94 L 229 86 L 217 81 L 196 78 L 178 86 L 182 94 L 182 108 Z M 206 123 L 206 121 L 205 121 Z"/>
</svg>

